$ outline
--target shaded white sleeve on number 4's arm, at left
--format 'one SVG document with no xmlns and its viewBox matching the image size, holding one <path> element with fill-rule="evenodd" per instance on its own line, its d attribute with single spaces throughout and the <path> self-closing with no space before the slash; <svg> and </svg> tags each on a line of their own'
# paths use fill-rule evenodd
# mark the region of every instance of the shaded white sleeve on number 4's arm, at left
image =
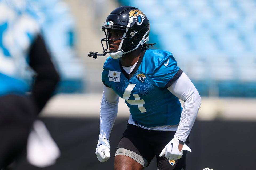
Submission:
<svg viewBox="0 0 256 170">
<path fill-rule="evenodd" d="M 109 139 L 112 127 L 117 117 L 119 96 L 109 87 L 104 86 L 100 109 L 99 139 Z"/>
</svg>

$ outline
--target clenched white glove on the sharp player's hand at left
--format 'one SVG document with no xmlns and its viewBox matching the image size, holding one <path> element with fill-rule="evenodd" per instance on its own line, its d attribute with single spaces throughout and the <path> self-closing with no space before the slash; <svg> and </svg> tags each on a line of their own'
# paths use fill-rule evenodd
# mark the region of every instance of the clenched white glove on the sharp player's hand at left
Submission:
<svg viewBox="0 0 256 170">
<path fill-rule="evenodd" d="M 99 139 L 95 152 L 99 162 L 105 162 L 110 158 L 109 140 Z"/>
</svg>

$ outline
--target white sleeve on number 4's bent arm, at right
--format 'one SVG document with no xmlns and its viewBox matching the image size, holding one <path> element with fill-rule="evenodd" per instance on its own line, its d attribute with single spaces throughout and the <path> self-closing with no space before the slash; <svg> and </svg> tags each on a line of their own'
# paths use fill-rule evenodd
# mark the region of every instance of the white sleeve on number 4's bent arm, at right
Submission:
<svg viewBox="0 0 256 170">
<path fill-rule="evenodd" d="M 197 112 L 201 104 L 201 97 L 194 84 L 184 72 L 176 82 L 167 89 L 176 97 L 184 101 L 181 120 L 174 138 L 185 142 L 195 122 L 195 118 L 197 117 Z"/>
</svg>

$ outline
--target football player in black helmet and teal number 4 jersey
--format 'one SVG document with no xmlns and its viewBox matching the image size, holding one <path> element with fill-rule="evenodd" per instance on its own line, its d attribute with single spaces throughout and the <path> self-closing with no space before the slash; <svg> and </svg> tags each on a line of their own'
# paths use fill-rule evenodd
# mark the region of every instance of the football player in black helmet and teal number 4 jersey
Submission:
<svg viewBox="0 0 256 170">
<path fill-rule="evenodd" d="M 116 8 L 102 30 L 109 51 L 103 47 L 103 54 L 89 54 L 110 53 L 102 72 L 98 160 L 110 158 L 109 138 L 122 97 L 131 114 L 114 169 L 144 169 L 154 156 L 159 170 L 186 169 L 189 133 L 201 104 L 197 89 L 170 52 L 149 49 L 149 20 L 139 9 Z M 183 109 L 179 99 L 185 101 Z"/>
</svg>

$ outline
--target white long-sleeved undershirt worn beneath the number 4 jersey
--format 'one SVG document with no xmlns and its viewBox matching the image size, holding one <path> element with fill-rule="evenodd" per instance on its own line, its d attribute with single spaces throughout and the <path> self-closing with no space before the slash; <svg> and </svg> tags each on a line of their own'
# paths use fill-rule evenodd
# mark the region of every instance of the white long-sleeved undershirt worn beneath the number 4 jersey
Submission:
<svg viewBox="0 0 256 170">
<path fill-rule="evenodd" d="M 123 67 L 123 69 L 126 73 L 130 74 L 135 66 L 136 64 L 130 67 Z M 182 73 L 176 82 L 167 89 L 176 97 L 185 101 L 181 112 L 181 120 L 178 125 L 165 125 L 147 128 L 135 124 L 131 114 L 129 116 L 128 123 L 149 130 L 176 131 L 174 137 L 185 142 L 194 124 L 201 104 L 200 95 L 185 73 Z M 119 96 L 111 88 L 104 86 L 100 111 L 99 138 L 109 139 L 115 118 L 117 117 L 118 102 Z"/>
</svg>

